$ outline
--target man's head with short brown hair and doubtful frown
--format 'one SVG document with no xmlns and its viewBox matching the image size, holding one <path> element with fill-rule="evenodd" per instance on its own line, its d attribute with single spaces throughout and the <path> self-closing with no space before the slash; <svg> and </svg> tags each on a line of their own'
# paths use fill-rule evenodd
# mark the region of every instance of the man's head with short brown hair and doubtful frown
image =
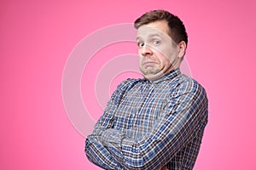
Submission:
<svg viewBox="0 0 256 170">
<path fill-rule="evenodd" d="M 164 10 L 143 14 L 134 23 L 140 70 L 154 81 L 179 68 L 186 52 L 188 37 L 183 22 Z"/>
</svg>

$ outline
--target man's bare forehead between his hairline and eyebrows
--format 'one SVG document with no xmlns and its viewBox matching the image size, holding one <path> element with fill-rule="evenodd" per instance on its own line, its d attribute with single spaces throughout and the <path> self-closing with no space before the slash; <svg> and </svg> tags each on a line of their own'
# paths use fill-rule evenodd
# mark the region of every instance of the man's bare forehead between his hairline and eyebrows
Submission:
<svg viewBox="0 0 256 170">
<path fill-rule="evenodd" d="M 159 20 L 151 22 L 147 25 L 140 26 L 137 29 L 137 38 L 154 36 L 166 37 L 168 36 L 168 33 L 169 27 L 167 25 L 166 20 Z"/>
</svg>

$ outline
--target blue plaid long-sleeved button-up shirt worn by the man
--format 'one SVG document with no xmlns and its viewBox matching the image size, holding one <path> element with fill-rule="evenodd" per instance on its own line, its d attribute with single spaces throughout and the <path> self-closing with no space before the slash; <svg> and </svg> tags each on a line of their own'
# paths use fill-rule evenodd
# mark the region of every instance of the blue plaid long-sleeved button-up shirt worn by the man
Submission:
<svg viewBox="0 0 256 170">
<path fill-rule="evenodd" d="M 192 169 L 207 125 L 207 94 L 179 69 L 121 82 L 85 142 L 104 169 Z"/>
</svg>

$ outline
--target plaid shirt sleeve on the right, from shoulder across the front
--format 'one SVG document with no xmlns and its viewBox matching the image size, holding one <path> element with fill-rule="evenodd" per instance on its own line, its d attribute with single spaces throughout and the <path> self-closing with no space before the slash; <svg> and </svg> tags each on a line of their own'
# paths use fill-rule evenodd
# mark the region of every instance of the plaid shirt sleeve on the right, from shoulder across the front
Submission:
<svg viewBox="0 0 256 170">
<path fill-rule="evenodd" d="M 195 82 L 172 93 L 160 119 L 140 139 L 108 128 L 99 140 L 125 169 L 158 169 L 193 139 L 207 119 L 207 95 Z"/>
</svg>

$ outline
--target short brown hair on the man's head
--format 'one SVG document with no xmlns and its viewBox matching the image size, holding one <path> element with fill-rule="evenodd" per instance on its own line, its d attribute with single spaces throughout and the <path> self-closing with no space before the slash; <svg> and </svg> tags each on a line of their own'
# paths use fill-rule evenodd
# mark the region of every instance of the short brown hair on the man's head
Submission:
<svg viewBox="0 0 256 170">
<path fill-rule="evenodd" d="M 166 10 L 153 10 L 143 14 L 134 22 L 134 27 L 138 29 L 140 26 L 147 25 L 158 20 L 167 21 L 170 30 L 170 37 L 172 37 L 176 43 L 184 41 L 188 44 L 188 34 L 185 26 L 183 25 L 183 21 Z"/>
</svg>

